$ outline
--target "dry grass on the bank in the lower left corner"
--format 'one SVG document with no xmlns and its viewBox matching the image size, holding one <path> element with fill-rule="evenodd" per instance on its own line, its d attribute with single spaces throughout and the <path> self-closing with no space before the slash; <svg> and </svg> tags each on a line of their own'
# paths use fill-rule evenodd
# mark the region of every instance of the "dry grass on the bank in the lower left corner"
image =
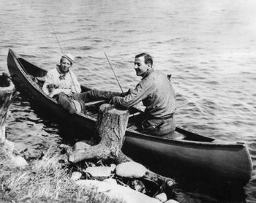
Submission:
<svg viewBox="0 0 256 203">
<path fill-rule="evenodd" d="M 42 159 L 18 169 L 0 153 L 0 202 L 120 202 L 75 185 L 59 156 L 49 149 Z"/>
</svg>

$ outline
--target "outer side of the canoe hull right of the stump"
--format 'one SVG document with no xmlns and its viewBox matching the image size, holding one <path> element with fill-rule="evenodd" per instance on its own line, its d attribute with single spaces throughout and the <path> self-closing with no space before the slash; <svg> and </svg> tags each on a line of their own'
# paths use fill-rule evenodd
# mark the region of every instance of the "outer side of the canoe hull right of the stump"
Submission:
<svg viewBox="0 0 256 203">
<path fill-rule="evenodd" d="M 245 144 L 162 142 L 161 139 L 142 138 L 127 132 L 123 151 L 168 177 L 187 175 L 206 181 L 215 179 L 230 185 L 245 185 L 252 176 L 252 162 Z"/>
</svg>

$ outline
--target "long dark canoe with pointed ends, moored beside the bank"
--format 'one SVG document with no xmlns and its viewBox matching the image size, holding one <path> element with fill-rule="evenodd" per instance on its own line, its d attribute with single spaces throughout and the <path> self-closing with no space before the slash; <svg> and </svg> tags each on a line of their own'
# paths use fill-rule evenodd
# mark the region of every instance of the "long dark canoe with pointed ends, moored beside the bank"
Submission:
<svg viewBox="0 0 256 203">
<path fill-rule="evenodd" d="M 94 131 L 97 112 L 102 101 L 87 103 L 86 114 L 70 115 L 55 99 L 42 92 L 42 85 L 34 77 L 43 77 L 46 69 L 39 68 L 15 54 L 11 49 L 7 56 L 7 66 L 15 87 L 39 107 L 69 126 Z M 81 85 L 82 91 L 90 88 Z M 211 137 L 192 133 L 176 127 L 176 139 L 154 137 L 141 134 L 136 123 L 142 112 L 130 109 L 126 138 L 122 150 L 135 161 L 146 164 L 149 169 L 167 177 L 173 172 L 190 177 L 203 177 L 206 180 L 222 180 L 234 185 L 246 185 L 252 176 L 252 160 L 243 142 L 222 142 Z"/>
</svg>

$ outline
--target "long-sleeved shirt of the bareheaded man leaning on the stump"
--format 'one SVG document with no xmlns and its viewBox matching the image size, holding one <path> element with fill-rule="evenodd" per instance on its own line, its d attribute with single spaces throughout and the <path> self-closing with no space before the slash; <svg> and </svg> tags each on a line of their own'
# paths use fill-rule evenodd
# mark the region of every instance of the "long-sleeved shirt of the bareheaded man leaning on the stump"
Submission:
<svg viewBox="0 0 256 203">
<path fill-rule="evenodd" d="M 176 109 L 175 92 L 169 78 L 150 69 L 131 93 L 125 97 L 113 98 L 114 104 L 123 107 L 132 107 L 139 102 L 143 102 L 149 117 L 162 118 L 173 114 Z"/>
</svg>

